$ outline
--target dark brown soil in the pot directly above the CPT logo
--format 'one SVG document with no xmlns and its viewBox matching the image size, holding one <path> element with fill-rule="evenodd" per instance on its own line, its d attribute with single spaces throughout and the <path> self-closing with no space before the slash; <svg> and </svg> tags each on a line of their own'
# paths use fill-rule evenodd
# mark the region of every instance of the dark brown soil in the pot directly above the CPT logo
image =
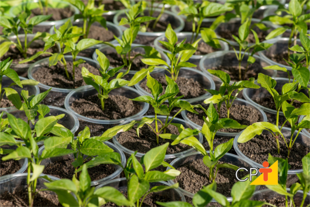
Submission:
<svg viewBox="0 0 310 207">
<path fill-rule="evenodd" d="M 286 142 L 290 143 L 290 139 L 286 138 Z M 274 157 L 280 157 L 282 159 L 287 158 L 288 149 L 281 135 L 279 138 L 279 143 L 280 154 L 278 154 L 274 136 L 271 134 L 261 134 L 256 135 L 253 139 L 246 143 L 238 144 L 238 148 L 245 156 L 249 157 L 258 164 L 262 164 L 268 160 L 269 153 Z M 304 146 L 295 142 L 289 157 L 289 165 L 291 165 L 291 169 L 302 169 L 301 159 L 309 153 L 309 151 L 309 146 Z"/>
</svg>

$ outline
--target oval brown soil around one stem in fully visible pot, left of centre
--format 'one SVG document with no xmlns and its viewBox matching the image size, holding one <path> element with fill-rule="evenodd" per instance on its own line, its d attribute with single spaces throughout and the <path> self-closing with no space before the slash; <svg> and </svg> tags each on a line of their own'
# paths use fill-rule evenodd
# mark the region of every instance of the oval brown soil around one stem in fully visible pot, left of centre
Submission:
<svg viewBox="0 0 310 207">
<path fill-rule="evenodd" d="M 97 95 L 80 98 L 71 104 L 74 112 L 88 118 L 113 120 L 132 116 L 142 110 L 142 106 L 122 95 L 109 95 L 105 102 L 105 111 Z"/>
</svg>

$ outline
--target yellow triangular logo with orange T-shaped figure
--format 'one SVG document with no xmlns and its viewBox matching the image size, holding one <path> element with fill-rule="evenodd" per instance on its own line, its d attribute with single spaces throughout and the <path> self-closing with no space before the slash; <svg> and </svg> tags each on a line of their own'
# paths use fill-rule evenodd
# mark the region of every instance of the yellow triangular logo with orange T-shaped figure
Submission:
<svg viewBox="0 0 310 207">
<path fill-rule="evenodd" d="M 278 185 L 278 161 L 272 166 L 268 162 L 263 163 L 264 168 L 259 169 L 262 174 L 250 185 Z"/>
</svg>

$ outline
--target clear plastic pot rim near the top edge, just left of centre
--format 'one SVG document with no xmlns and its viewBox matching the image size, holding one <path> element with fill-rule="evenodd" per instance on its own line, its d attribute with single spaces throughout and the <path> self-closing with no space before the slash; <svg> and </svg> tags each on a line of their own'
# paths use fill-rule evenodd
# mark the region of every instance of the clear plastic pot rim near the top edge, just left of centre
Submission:
<svg viewBox="0 0 310 207">
<path fill-rule="evenodd" d="M 126 10 L 128 12 L 128 10 Z M 155 9 L 154 10 L 155 13 L 153 14 L 153 16 L 157 17 L 160 12 L 161 9 Z M 143 11 L 145 16 L 149 16 L 149 9 L 146 9 Z M 156 13 L 158 13 L 158 15 L 156 16 Z M 115 25 L 119 25 L 119 22 L 122 18 L 127 18 L 125 11 L 121 11 L 118 14 L 115 15 L 114 19 L 113 19 L 113 23 Z M 161 17 L 162 20 L 164 20 L 165 22 L 169 22 L 171 25 L 175 26 L 176 28 L 174 29 L 175 32 L 181 32 L 182 29 L 184 28 L 184 21 L 181 17 L 179 17 L 178 15 L 175 15 L 174 13 L 170 12 L 170 11 L 164 11 L 163 16 Z M 119 26 L 123 31 L 127 29 L 127 27 L 125 26 Z M 142 35 L 142 36 L 147 36 L 147 37 L 154 37 L 154 39 L 156 37 L 162 36 L 164 35 L 164 31 L 163 32 L 138 32 L 138 35 Z"/>
</svg>

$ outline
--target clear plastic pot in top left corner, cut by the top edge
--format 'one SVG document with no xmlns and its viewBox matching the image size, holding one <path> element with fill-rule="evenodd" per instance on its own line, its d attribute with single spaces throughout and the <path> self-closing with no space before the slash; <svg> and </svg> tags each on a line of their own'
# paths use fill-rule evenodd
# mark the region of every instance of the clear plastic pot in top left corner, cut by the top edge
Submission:
<svg viewBox="0 0 310 207">
<path fill-rule="evenodd" d="M 44 4 L 44 1 L 43 1 Z M 49 8 L 66 8 L 66 7 L 70 7 L 70 10 L 73 11 L 73 15 L 69 18 L 66 19 L 61 19 L 61 20 L 56 20 L 56 21 L 43 21 L 39 24 L 37 24 L 34 27 L 34 31 L 40 31 L 40 32 L 49 32 L 51 27 L 54 27 L 54 25 L 57 24 L 63 24 L 66 21 L 68 21 L 68 19 L 71 19 L 71 21 L 74 21 L 74 15 L 79 14 L 78 9 L 73 6 L 71 3 L 66 2 L 66 1 L 59 1 L 59 0 L 53 0 L 53 1 L 49 1 L 48 4 Z M 10 9 L 10 14 L 14 17 L 18 16 L 18 14 L 20 14 L 23 11 L 23 8 L 27 6 L 27 8 L 31 11 L 32 9 L 36 9 L 39 8 L 39 4 L 37 1 L 28 1 L 25 3 L 21 3 L 17 6 L 13 6 Z"/>
</svg>

